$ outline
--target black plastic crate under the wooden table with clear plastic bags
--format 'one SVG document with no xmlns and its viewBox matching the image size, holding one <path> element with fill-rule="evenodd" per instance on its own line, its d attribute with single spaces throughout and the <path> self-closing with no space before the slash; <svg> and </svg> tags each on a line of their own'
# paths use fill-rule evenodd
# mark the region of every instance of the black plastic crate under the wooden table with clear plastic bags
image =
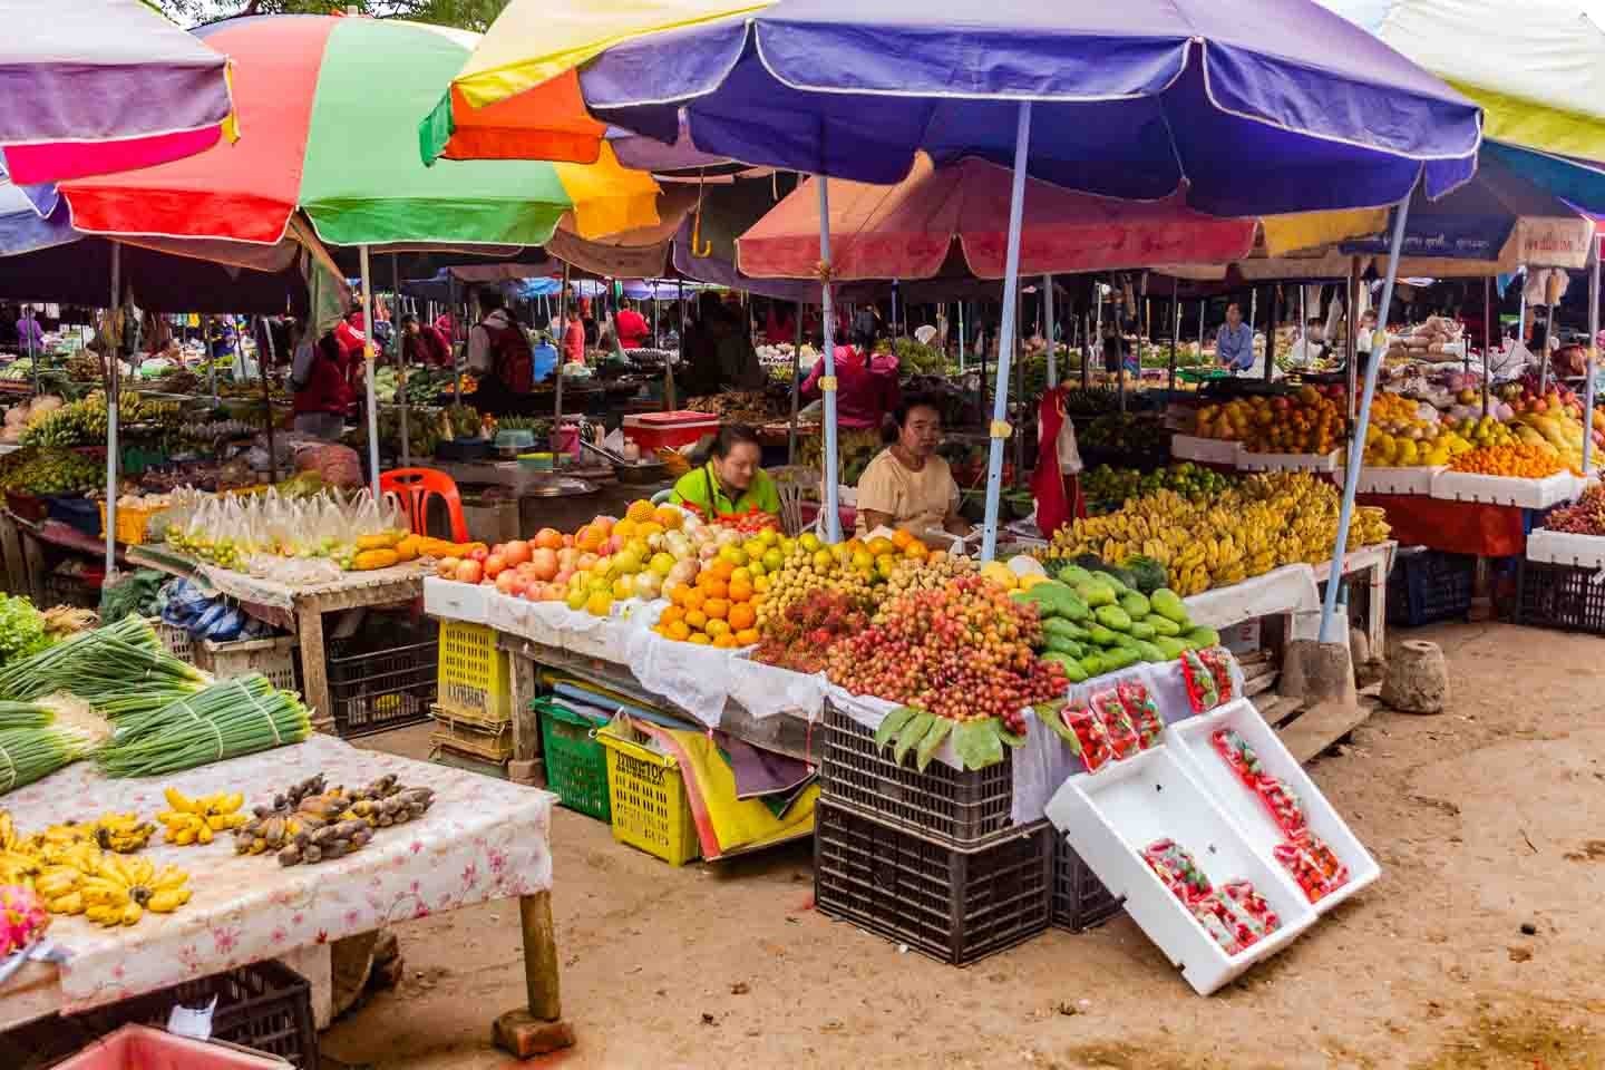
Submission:
<svg viewBox="0 0 1605 1070">
<path fill-rule="evenodd" d="M 340 738 L 430 719 L 438 693 L 440 632 L 433 622 L 392 634 L 393 646 L 329 642 L 329 701 Z"/>
</svg>

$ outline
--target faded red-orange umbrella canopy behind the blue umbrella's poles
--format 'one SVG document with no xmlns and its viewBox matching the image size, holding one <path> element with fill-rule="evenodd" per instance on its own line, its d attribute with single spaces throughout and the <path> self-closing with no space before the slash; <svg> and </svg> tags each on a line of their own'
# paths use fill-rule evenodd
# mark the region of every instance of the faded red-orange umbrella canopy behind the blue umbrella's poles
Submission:
<svg viewBox="0 0 1605 1070">
<path fill-rule="evenodd" d="M 819 191 L 809 180 L 737 241 L 754 278 L 817 276 Z M 985 160 L 933 167 L 921 156 L 896 186 L 835 183 L 833 279 L 929 279 L 957 241 L 969 273 L 1003 278 L 1010 172 Z M 1221 220 L 1162 202 L 1111 201 L 1042 181 L 1026 186 L 1021 274 L 1111 271 L 1154 263 L 1228 263 L 1254 249 L 1254 220 Z"/>
</svg>

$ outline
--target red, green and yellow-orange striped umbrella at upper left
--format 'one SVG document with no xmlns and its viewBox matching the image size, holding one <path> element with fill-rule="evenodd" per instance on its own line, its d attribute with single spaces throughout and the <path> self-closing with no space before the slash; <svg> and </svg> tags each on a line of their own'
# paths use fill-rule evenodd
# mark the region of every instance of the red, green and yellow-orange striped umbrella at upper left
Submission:
<svg viewBox="0 0 1605 1070">
<path fill-rule="evenodd" d="M 281 14 L 201 37 L 236 64 L 247 136 L 201 156 L 63 184 L 80 231 L 278 242 L 302 210 L 337 245 L 539 245 L 565 213 L 584 237 L 658 221 L 656 183 L 594 165 L 425 167 L 417 116 L 478 35 L 417 22 Z"/>
</svg>

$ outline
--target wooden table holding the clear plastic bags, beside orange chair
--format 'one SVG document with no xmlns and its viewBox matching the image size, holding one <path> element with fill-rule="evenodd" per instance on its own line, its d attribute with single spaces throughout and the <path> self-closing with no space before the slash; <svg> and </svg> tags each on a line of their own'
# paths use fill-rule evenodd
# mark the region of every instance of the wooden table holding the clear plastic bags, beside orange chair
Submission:
<svg viewBox="0 0 1605 1070">
<path fill-rule="evenodd" d="M 343 573 L 339 579 L 323 584 L 292 587 L 207 565 L 160 544 L 128 547 L 127 555 L 130 565 L 191 579 L 217 594 L 238 598 L 250 616 L 294 632 L 300 645 L 302 695 L 318 714 L 313 727 L 323 732 L 334 723 L 323 614 L 412 602 L 424 594 L 424 576 L 430 573 L 427 565 L 406 561 L 390 568 Z"/>
</svg>

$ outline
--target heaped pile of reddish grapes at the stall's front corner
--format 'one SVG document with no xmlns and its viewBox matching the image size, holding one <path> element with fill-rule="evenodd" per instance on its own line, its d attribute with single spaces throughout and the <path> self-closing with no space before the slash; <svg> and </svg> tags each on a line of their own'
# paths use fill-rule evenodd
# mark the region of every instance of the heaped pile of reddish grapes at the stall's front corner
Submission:
<svg viewBox="0 0 1605 1070">
<path fill-rule="evenodd" d="M 1035 606 L 979 576 L 894 598 L 876 621 L 830 648 L 833 683 L 953 720 L 998 717 L 1016 735 L 1027 706 L 1064 695 L 1064 667 L 1032 650 Z"/>
</svg>

